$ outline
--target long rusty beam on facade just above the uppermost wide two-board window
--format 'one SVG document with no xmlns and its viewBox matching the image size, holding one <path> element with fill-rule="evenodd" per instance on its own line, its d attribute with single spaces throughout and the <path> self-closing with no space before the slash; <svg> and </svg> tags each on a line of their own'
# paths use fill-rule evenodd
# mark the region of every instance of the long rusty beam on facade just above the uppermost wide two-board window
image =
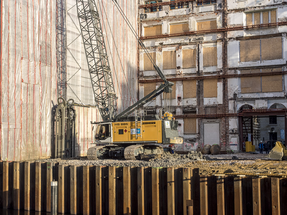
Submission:
<svg viewBox="0 0 287 215">
<path fill-rule="evenodd" d="M 254 29 L 254 28 L 263 28 L 263 27 L 280 26 L 280 25 L 287 25 L 287 22 L 274 22 L 274 23 L 267 23 L 267 24 L 260 24 L 260 25 L 247 25 L 247 26 L 238 26 L 238 27 L 229 27 L 229 28 L 218 28 L 218 29 L 211 29 L 211 30 L 188 31 L 184 33 L 162 34 L 162 35 L 156 35 L 156 36 L 140 37 L 140 39 L 147 40 L 147 39 L 157 39 L 157 38 L 166 38 L 166 37 L 179 37 L 179 36 L 189 36 L 189 35 L 195 35 L 195 34 L 201 34 L 201 33 L 217 33 L 217 32 L 226 32 L 226 31 L 249 30 L 249 29 Z"/>
</svg>

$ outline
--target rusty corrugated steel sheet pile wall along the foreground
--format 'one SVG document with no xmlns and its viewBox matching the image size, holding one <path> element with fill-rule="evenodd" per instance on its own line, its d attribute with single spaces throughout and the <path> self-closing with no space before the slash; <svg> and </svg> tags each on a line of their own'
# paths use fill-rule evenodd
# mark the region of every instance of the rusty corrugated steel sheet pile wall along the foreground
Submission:
<svg viewBox="0 0 287 215">
<path fill-rule="evenodd" d="M 199 175 L 198 168 L 65 166 L 1 162 L 0 208 L 50 211 L 58 181 L 58 213 L 285 214 L 287 179 Z"/>
</svg>

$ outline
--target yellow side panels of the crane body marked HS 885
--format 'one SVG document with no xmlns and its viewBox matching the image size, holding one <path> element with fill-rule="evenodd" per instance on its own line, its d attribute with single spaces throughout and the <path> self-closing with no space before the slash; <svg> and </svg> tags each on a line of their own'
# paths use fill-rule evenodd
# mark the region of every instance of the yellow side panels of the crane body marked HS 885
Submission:
<svg viewBox="0 0 287 215">
<path fill-rule="evenodd" d="M 137 127 L 135 122 L 115 122 L 112 125 L 114 142 L 157 141 L 162 143 L 161 120 L 142 121 L 142 125 Z"/>
</svg>

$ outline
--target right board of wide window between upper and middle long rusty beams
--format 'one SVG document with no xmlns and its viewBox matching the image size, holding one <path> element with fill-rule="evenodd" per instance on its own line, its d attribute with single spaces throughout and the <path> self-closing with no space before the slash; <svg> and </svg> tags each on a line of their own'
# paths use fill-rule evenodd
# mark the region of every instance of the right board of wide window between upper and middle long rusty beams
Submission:
<svg viewBox="0 0 287 215">
<path fill-rule="evenodd" d="M 274 60 L 282 58 L 282 38 L 261 39 L 261 59 Z"/>
</svg>

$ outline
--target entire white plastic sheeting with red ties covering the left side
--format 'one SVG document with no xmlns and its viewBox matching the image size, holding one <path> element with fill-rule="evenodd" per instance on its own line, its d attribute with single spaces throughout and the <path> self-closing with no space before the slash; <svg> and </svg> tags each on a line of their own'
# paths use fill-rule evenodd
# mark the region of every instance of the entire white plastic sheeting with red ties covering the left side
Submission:
<svg viewBox="0 0 287 215">
<path fill-rule="evenodd" d="M 73 98 L 76 103 L 83 105 L 75 107 L 76 154 L 86 155 L 92 138 L 90 121 L 101 118 L 96 108 L 84 107 L 94 105 L 94 97 L 79 32 L 76 2 L 69 0 L 63 6 L 66 70 L 61 83 L 58 80 L 60 76 L 57 77 L 56 12 L 57 2 L 59 4 L 62 1 L 0 2 L 1 159 L 19 161 L 51 156 L 51 142 L 54 143 L 55 138 L 51 129 L 54 127 L 52 112 L 58 95 L 61 95 L 57 90 L 59 86 L 66 86 L 66 99 Z M 118 0 L 118 3 L 134 29 L 137 29 L 137 1 Z M 100 16 L 104 14 L 102 27 L 119 96 L 118 109 L 122 111 L 133 104 L 137 97 L 137 42 L 112 1 L 99 0 L 98 9 Z M 114 35 L 115 44 L 111 35 Z"/>
</svg>

